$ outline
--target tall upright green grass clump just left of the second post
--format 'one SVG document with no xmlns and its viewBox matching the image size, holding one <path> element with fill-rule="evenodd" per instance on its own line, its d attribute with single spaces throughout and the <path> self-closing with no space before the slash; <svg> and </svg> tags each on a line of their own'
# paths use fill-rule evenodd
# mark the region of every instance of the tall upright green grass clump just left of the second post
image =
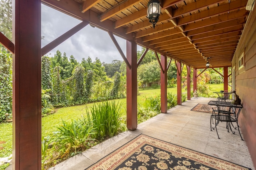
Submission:
<svg viewBox="0 0 256 170">
<path fill-rule="evenodd" d="M 121 119 L 121 106 L 119 102 L 106 101 L 93 104 L 90 113 L 87 110 L 88 120 L 96 131 L 92 137 L 97 140 L 107 139 L 126 130 Z"/>
</svg>

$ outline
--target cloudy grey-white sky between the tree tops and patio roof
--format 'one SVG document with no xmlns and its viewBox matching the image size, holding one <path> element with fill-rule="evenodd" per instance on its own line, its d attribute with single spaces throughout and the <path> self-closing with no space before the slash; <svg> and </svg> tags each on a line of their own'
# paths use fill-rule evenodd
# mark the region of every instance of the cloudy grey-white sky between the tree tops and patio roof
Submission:
<svg viewBox="0 0 256 170">
<path fill-rule="evenodd" d="M 42 47 L 80 22 L 80 20 L 42 4 L 42 36 L 44 36 Z M 120 37 L 115 37 L 122 51 L 126 54 L 126 41 Z M 140 47 L 137 49 L 140 50 Z M 92 58 L 92 61 L 98 57 L 101 62 L 105 63 L 111 63 L 113 60 L 123 61 L 108 33 L 90 25 L 78 31 L 46 55 L 54 56 L 57 50 L 62 54 L 66 52 L 67 57 L 73 55 L 79 62 L 88 56 Z"/>
</svg>

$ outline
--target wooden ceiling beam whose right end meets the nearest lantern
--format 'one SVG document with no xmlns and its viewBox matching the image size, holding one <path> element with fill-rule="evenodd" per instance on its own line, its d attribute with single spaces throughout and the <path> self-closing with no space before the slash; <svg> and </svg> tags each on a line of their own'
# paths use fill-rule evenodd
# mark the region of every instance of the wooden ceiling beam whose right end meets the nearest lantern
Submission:
<svg viewBox="0 0 256 170">
<path fill-rule="evenodd" d="M 139 10 L 137 12 L 134 12 L 131 15 L 128 15 L 120 20 L 117 20 L 115 22 L 114 28 L 122 27 L 123 25 L 126 25 L 132 21 L 139 20 L 140 18 L 146 17 L 147 14 L 147 8 L 143 8 L 142 10 Z"/>
</svg>

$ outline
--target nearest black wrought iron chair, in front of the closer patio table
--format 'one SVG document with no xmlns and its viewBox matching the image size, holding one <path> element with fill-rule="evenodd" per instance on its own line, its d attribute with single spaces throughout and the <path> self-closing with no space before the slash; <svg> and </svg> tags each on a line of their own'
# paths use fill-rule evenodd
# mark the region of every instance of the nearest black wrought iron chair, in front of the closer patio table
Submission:
<svg viewBox="0 0 256 170">
<path fill-rule="evenodd" d="M 218 131 L 217 131 L 217 125 L 220 122 L 226 122 L 226 128 L 232 131 L 233 134 L 235 134 L 235 131 L 232 130 L 231 125 L 234 129 L 238 129 L 238 132 L 240 134 L 241 139 L 242 135 L 240 133 L 240 129 L 239 129 L 239 125 L 238 125 L 238 116 L 240 114 L 242 108 L 238 108 L 238 107 L 229 107 L 229 106 L 218 106 L 218 107 L 213 107 L 212 108 L 212 115 L 211 115 L 211 119 L 210 119 L 210 127 L 211 127 L 211 131 L 212 129 L 216 129 L 217 135 L 218 135 L 218 139 L 220 139 Z M 215 119 L 215 126 L 212 127 L 212 124 L 214 124 L 213 119 Z M 232 122 L 236 122 L 237 127 L 234 127 L 234 125 L 232 124 Z"/>
</svg>

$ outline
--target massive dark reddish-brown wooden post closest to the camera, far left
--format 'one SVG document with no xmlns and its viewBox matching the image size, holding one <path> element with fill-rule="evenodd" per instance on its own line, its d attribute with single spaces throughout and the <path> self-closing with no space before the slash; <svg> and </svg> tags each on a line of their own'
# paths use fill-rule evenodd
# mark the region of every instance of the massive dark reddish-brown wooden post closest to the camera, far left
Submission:
<svg viewBox="0 0 256 170">
<path fill-rule="evenodd" d="M 13 170 L 41 170 L 41 0 L 13 2 Z"/>
</svg>

